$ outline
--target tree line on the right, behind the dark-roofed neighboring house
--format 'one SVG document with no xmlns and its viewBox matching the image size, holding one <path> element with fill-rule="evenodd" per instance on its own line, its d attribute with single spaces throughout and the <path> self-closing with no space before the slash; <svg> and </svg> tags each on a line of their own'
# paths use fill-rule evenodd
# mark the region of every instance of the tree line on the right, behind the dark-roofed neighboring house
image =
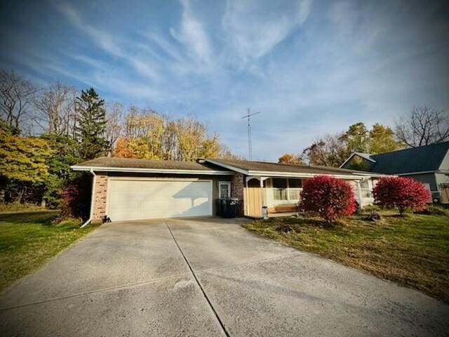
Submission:
<svg viewBox="0 0 449 337">
<path fill-rule="evenodd" d="M 449 140 L 448 110 L 413 107 L 394 128 L 376 123 L 368 129 L 359 122 L 346 131 L 319 136 L 299 154 L 283 154 L 279 163 L 339 167 L 353 152 L 380 154 Z"/>
</svg>

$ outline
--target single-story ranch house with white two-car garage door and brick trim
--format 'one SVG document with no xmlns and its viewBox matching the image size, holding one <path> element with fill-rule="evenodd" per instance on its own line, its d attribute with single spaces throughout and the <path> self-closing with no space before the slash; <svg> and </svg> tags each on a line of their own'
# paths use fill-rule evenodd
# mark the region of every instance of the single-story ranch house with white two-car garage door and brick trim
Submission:
<svg viewBox="0 0 449 337">
<path fill-rule="evenodd" d="M 215 199 L 239 199 L 239 216 L 297 211 L 302 181 L 327 174 L 348 180 L 359 204 L 373 201 L 376 173 L 261 161 L 196 162 L 102 157 L 72 166 L 93 175 L 91 220 L 215 215 Z"/>
</svg>

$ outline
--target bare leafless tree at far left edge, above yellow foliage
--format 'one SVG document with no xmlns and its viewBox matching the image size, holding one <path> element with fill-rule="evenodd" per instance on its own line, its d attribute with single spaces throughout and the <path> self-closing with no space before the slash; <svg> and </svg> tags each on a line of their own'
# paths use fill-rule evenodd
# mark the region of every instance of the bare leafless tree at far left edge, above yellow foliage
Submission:
<svg viewBox="0 0 449 337">
<path fill-rule="evenodd" d="M 1 117 L 16 133 L 20 132 L 37 89 L 15 72 L 0 72 Z"/>
</svg>

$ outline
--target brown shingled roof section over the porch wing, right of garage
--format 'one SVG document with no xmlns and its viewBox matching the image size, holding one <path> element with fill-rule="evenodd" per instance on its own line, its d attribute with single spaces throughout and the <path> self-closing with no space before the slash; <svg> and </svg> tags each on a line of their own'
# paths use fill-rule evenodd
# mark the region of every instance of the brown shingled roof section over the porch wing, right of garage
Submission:
<svg viewBox="0 0 449 337">
<path fill-rule="evenodd" d="M 279 164 L 267 161 L 249 161 L 234 159 L 210 159 L 214 162 L 236 167 L 244 171 L 269 171 L 269 172 L 287 172 L 287 173 L 312 173 L 312 174 L 353 174 L 365 173 L 347 169 L 337 169 L 327 166 L 309 166 L 295 164 Z"/>
</svg>

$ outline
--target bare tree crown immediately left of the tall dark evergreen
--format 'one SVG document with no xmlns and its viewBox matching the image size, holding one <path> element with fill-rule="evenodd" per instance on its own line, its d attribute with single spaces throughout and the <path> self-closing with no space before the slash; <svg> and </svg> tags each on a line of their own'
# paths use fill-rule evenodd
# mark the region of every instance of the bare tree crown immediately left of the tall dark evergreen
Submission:
<svg viewBox="0 0 449 337">
<path fill-rule="evenodd" d="M 43 89 L 34 100 L 34 120 L 44 132 L 73 136 L 76 125 L 76 88 L 56 82 Z"/>
</svg>

